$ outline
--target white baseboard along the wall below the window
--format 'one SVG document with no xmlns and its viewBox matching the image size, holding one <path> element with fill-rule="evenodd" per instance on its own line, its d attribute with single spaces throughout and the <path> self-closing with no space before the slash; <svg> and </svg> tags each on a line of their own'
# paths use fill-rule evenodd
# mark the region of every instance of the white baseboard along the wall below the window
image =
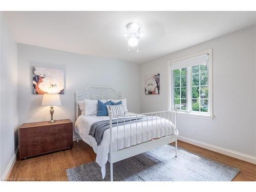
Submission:
<svg viewBox="0 0 256 192">
<path fill-rule="evenodd" d="M 184 141 L 184 142 L 196 145 L 196 146 L 200 146 L 202 148 L 206 148 L 207 150 L 210 150 L 210 151 L 214 151 L 214 152 L 217 152 L 217 153 L 221 153 L 221 154 L 224 154 L 224 155 L 227 155 L 227 156 L 230 156 L 230 157 L 234 157 L 234 158 L 237 158 L 237 159 L 241 159 L 243 161 L 247 161 L 247 162 L 256 164 L 256 157 L 252 156 L 252 155 L 248 155 L 248 154 L 244 154 L 244 153 L 241 153 L 241 152 L 229 150 L 228 148 L 223 148 L 223 147 L 220 147 L 220 146 L 204 143 L 204 142 L 197 141 L 197 140 L 194 140 L 194 139 L 189 139 L 187 137 L 178 136 L 178 140 Z"/>
</svg>

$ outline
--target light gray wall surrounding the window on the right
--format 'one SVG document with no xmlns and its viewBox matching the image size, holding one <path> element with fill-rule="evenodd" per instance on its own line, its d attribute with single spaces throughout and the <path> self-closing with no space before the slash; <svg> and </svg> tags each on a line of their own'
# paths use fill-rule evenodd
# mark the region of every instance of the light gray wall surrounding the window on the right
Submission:
<svg viewBox="0 0 256 192">
<path fill-rule="evenodd" d="M 169 42 L 170 44 L 172 42 Z M 214 120 L 178 116 L 180 136 L 256 156 L 255 29 L 243 29 L 140 65 L 141 112 L 167 110 L 167 62 L 213 49 Z M 144 76 L 160 73 L 160 95 Z M 197 134 L 193 134 L 197 129 Z"/>
</svg>

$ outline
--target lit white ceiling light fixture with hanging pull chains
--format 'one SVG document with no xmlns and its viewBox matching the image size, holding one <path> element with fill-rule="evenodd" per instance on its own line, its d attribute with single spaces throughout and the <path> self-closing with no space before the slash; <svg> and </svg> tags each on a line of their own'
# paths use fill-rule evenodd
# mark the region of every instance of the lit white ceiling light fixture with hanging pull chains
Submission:
<svg viewBox="0 0 256 192">
<path fill-rule="evenodd" d="M 137 46 L 137 53 L 139 53 L 139 38 L 140 38 L 140 24 L 132 22 L 126 25 L 128 39 L 128 53 L 130 53 L 130 46 Z"/>
</svg>

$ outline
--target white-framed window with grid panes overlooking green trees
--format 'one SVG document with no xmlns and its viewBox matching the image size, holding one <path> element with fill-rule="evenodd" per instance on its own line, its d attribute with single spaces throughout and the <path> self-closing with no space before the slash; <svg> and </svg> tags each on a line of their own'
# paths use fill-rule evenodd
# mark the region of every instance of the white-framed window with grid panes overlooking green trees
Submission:
<svg viewBox="0 0 256 192">
<path fill-rule="evenodd" d="M 212 117 L 211 50 L 170 61 L 169 103 L 179 113 Z"/>
</svg>

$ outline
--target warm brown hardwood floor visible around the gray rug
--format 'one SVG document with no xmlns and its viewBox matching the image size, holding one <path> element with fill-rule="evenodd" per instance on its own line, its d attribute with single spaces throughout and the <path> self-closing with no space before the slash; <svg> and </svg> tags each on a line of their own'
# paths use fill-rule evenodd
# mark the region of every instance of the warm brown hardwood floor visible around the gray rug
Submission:
<svg viewBox="0 0 256 192">
<path fill-rule="evenodd" d="M 256 181 L 256 165 L 234 159 L 204 148 L 178 141 L 178 146 L 192 153 L 220 163 L 237 167 L 240 173 L 233 181 Z M 67 181 L 66 169 L 95 161 L 96 155 L 92 148 L 79 141 L 74 142 L 72 150 L 18 160 L 9 176 L 10 181 Z"/>
</svg>

